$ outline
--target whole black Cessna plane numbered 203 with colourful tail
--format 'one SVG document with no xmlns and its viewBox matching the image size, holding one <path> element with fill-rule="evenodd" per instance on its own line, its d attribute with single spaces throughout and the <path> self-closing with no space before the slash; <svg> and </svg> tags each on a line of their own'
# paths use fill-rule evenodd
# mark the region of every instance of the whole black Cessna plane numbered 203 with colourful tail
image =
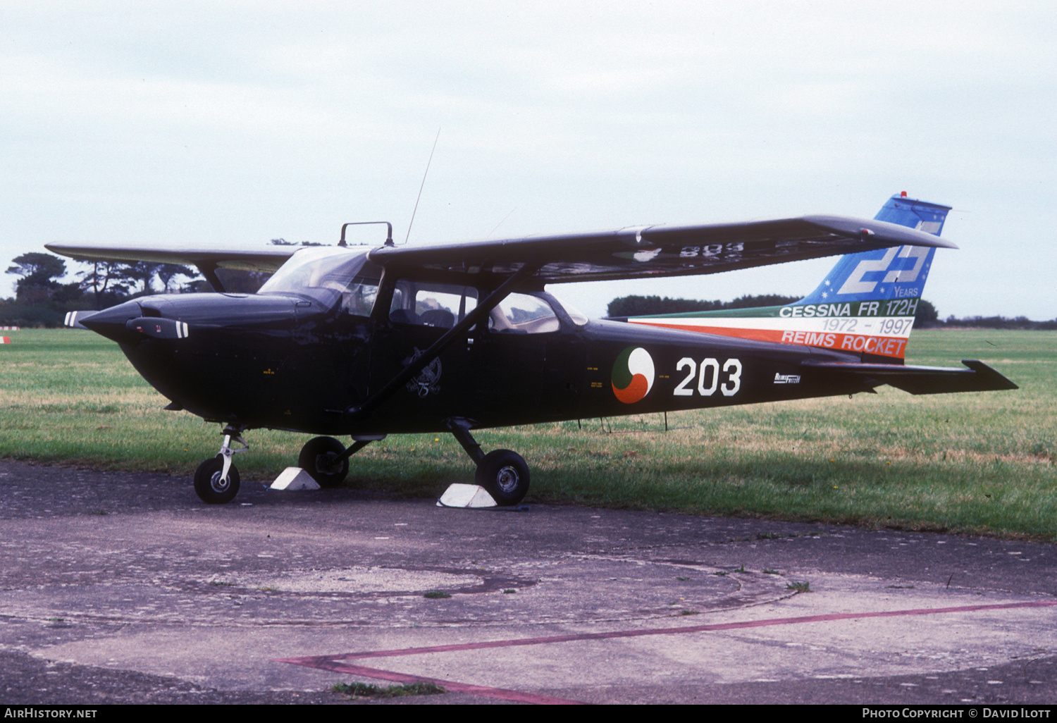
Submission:
<svg viewBox="0 0 1057 723">
<path fill-rule="evenodd" d="M 947 206 L 892 197 L 872 221 L 806 216 L 706 226 L 377 248 L 49 244 L 89 261 L 194 264 L 217 293 L 146 296 L 82 323 L 117 341 L 184 409 L 223 425 L 194 475 L 206 502 L 239 488 L 231 455 L 255 427 L 316 437 L 298 464 L 339 484 L 349 457 L 401 432 L 449 431 L 500 504 L 528 468 L 481 450 L 472 429 L 855 394 L 1016 389 L 980 362 L 904 365 Z M 350 224 L 346 224 L 350 225 Z M 388 224 L 387 224 L 388 225 Z M 810 296 L 783 307 L 589 320 L 546 284 L 716 274 L 841 255 Z M 225 293 L 218 267 L 273 271 L 257 294 Z M 331 435 L 349 435 L 347 448 Z M 241 445 L 233 450 L 231 443 Z"/>
</svg>

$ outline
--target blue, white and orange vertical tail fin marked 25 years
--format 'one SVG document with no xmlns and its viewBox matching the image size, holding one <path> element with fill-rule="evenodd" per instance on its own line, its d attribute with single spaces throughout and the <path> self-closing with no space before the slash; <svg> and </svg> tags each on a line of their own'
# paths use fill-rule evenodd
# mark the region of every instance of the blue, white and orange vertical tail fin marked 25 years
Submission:
<svg viewBox="0 0 1057 723">
<path fill-rule="evenodd" d="M 949 210 L 904 192 L 890 198 L 874 219 L 939 236 Z M 841 256 L 815 291 L 781 307 L 639 316 L 628 321 L 836 349 L 861 354 L 864 360 L 901 364 L 934 251 L 897 246 Z"/>
</svg>

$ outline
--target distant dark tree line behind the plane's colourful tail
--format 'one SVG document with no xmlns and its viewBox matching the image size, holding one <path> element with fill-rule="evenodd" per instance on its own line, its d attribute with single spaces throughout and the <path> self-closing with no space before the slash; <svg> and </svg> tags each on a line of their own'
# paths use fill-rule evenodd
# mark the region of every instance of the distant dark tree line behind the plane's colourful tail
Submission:
<svg viewBox="0 0 1057 723">
<path fill-rule="evenodd" d="M 801 298 L 803 297 L 762 294 L 758 296 L 740 296 L 733 301 L 704 301 L 700 299 L 673 299 L 667 296 L 620 296 L 609 302 L 607 315 L 610 317 L 650 316 L 653 314 L 683 314 L 722 309 L 781 307 L 786 303 L 799 301 Z M 940 313 L 935 307 L 926 299 L 917 302 L 917 312 L 914 314 L 914 326 L 919 329 L 1057 329 L 1057 319 L 1032 321 L 1025 316 L 1018 316 L 1012 319 L 1005 316 L 967 316 L 963 318 L 948 316 L 945 320 L 941 320 Z"/>
</svg>

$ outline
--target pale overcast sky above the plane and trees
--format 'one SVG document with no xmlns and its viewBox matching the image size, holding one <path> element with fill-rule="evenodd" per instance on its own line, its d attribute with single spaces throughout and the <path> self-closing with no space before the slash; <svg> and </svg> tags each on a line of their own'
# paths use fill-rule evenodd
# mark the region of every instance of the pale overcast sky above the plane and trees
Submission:
<svg viewBox="0 0 1057 723">
<path fill-rule="evenodd" d="M 872 218 L 906 190 L 954 208 L 942 316 L 1051 319 L 1055 8 L 3 0 L 0 263 L 377 219 L 402 241 L 440 129 L 412 242 Z M 599 316 L 628 293 L 806 294 L 830 265 L 551 291 Z"/>
</svg>

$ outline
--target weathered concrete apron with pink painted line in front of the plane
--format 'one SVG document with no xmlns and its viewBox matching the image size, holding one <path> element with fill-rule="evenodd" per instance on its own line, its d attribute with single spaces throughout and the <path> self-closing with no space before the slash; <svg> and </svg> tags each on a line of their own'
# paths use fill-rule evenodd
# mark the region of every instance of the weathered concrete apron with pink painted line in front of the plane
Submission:
<svg viewBox="0 0 1057 723">
<path fill-rule="evenodd" d="M 527 702 L 1057 650 L 1052 545 L 348 490 L 171 506 L 0 520 L 0 642 L 220 690 L 428 679 Z"/>
</svg>

